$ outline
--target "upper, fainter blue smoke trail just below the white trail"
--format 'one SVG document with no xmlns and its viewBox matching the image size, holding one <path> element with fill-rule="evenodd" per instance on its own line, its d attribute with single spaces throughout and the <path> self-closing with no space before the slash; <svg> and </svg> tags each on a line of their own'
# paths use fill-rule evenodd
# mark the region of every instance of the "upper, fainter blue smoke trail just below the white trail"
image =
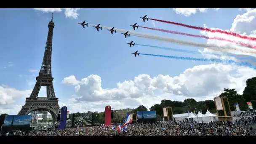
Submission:
<svg viewBox="0 0 256 144">
<path fill-rule="evenodd" d="M 136 45 L 147 46 L 147 47 L 152 47 L 152 48 L 158 48 L 158 49 L 163 49 L 163 50 L 168 50 L 168 51 L 178 51 L 178 52 L 183 52 L 183 53 L 201 54 L 199 51 L 188 51 L 188 50 L 184 50 L 184 49 L 168 48 L 168 47 L 161 47 L 161 46 L 155 46 L 155 45 L 142 45 L 142 44 L 136 44 Z M 213 55 L 216 55 L 216 56 L 233 56 L 233 57 L 235 57 L 237 59 L 240 59 L 240 60 L 250 59 L 252 61 L 256 61 L 256 59 L 253 59 L 251 57 L 239 58 L 235 54 L 228 54 L 228 53 L 227 54 L 219 54 L 219 53 L 205 52 L 205 54 L 213 54 Z"/>
</svg>

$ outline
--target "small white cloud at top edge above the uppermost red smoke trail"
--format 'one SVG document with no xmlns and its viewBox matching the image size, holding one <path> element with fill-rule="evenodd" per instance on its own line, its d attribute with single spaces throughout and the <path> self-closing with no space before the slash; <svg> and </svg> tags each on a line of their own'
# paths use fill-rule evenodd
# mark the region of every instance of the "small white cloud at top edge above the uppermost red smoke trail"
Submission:
<svg viewBox="0 0 256 144">
<path fill-rule="evenodd" d="M 190 16 L 192 14 L 197 13 L 198 11 L 201 13 L 205 13 L 209 9 L 210 8 L 173 8 L 173 11 L 175 11 L 177 14 L 180 14 L 180 15 Z M 219 8 L 214 8 L 214 10 L 218 11 Z"/>
</svg>

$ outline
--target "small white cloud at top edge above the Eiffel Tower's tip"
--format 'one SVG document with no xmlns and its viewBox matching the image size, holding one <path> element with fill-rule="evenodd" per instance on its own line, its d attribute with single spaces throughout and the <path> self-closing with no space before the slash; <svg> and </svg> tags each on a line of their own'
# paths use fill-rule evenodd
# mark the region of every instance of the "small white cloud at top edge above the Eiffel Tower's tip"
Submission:
<svg viewBox="0 0 256 144">
<path fill-rule="evenodd" d="M 80 8 L 34 8 L 37 11 L 44 13 L 48 12 L 61 12 L 64 11 L 66 18 L 77 19 L 79 13 L 77 12 Z"/>
</svg>

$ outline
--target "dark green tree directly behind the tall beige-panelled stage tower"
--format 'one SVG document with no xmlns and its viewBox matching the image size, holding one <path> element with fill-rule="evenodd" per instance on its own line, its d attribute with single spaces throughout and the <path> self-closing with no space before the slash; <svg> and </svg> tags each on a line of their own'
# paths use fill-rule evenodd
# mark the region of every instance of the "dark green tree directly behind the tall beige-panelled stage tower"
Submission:
<svg viewBox="0 0 256 144">
<path fill-rule="evenodd" d="M 245 99 L 242 95 L 238 94 L 235 89 L 224 88 L 224 92 L 219 95 L 220 97 L 227 97 L 231 111 L 235 111 L 234 104 L 238 103 L 241 110 L 246 107 Z"/>
</svg>

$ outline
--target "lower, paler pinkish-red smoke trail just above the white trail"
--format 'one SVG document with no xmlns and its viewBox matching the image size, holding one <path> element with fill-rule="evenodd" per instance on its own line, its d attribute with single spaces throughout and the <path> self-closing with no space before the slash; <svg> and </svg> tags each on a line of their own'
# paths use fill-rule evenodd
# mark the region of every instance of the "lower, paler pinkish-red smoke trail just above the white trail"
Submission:
<svg viewBox="0 0 256 144">
<path fill-rule="evenodd" d="M 139 27 L 141 27 L 141 26 L 139 26 Z M 187 36 L 190 36 L 190 37 L 200 37 L 200 38 L 205 38 L 205 39 L 208 39 L 208 40 L 222 40 L 222 41 L 235 43 L 237 45 L 243 45 L 243 46 L 248 47 L 248 48 L 256 48 L 256 46 L 248 45 L 248 44 L 241 43 L 241 42 L 236 42 L 234 40 L 227 40 L 227 39 L 224 39 L 224 38 L 221 38 L 221 37 L 206 37 L 206 36 L 203 36 L 203 35 L 193 35 L 193 34 L 188 34 L 188 33 L 184 33 L 184 32 L 176 32 L 176 31 L 166 30 L 166 29 L 155 29 L 155 28 L 151 28 L 151 27 L 141 27 L 141 28 L 157 30 L 157 31 L 160 31 L 160 32 L 168 32 L 168 33 L 171 33 L 171 34 L 187 35 Z"/>
</svg>

